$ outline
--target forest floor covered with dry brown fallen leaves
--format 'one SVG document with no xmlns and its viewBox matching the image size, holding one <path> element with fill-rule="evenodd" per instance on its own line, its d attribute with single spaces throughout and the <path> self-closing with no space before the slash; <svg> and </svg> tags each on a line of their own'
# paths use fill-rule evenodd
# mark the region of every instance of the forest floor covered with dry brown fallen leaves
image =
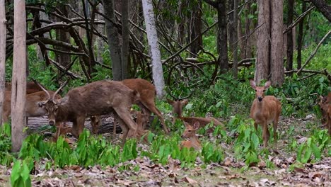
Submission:
<svg viewBox="0 0 331 187">
<path fill-rule="evenodd" d="M 45 118 L 40 121 L 43 120 Z M 296 160 L 296 151 L 289 152 L 286 132 L 290 125 L 295 125 L 293 136 L 296 140 L 304 141 L 305 132 L 309 131 L 307 124 L 312 124 L 312 121 L 316 122 L 316 119 L 281 118 L 278 131 L 279 154 L 272 152 L 268 158 L 274 164 L 273 169 L 268 169 L 266 163 L 260 162 L 243 171 L 245 164 L 233 157 L 233 145 L 224 143 L 222 147 L 226 158 L 223 162 L 203 166 L 197 159 L 193 169 L 182 169 L 180 162 L 171 158 L 167 165 L 153 163 L 146 157 L 137 157 L 114 167 L 66 166 L 64 169 L 53 167 L 50 170 L 45 169 L 42 161 L 35 167 L 31 179 L 33 186 L 331 186 L 330 157 L 322 157 L 317 163 L 289 170 Z M 36 129 L 31 124 L 37 123 L 29 123 L 29 128 Z M 120 141 L 118 138 L 117 135 L 115 140 Z M 73 137 L 71 139 L 75 141 Z M 119 171 L 122 165 L 128 168 Z M 139 171 L 136 171 L 137 166 Z M 10 186 L 10 173 L 11 169 L 0 166 L 0 186 Z"/>
</svg>

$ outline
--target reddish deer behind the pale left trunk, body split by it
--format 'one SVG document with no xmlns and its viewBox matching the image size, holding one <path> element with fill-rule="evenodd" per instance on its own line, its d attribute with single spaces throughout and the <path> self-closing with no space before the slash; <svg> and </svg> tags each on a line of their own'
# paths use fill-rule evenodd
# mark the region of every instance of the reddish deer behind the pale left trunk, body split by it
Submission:
<svg viewBox="0 0 331 187">
<path fill-rule="evenodd" d="M 54 91 L 47 91 L 47 94 L 54 94 Z M 25 103 L 25 115 L 27 117 L 38 117 L 47 114 L 45 108 L 40 108 L 38 103 L 40 101 L 45 101 L 47 99 L 47 94 L 44 91 L 38 91 L 33 94 L 26 95 L 26 103 Z M 61 96 L 55 94 L 54 98 L 59 99 Z M 7 122 L 9 116 L 11 115 L 11 91 L 5 92 L 4 98 L 4 112 L 2 114 L 2 119 L 4 122 Z"/>
</svg>

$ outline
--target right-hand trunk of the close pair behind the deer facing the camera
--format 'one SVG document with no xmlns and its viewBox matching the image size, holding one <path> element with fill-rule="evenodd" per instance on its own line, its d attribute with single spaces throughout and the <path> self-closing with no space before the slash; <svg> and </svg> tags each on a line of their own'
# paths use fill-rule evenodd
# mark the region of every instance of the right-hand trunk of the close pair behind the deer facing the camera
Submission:
<svg viewBox="0 0 331 187">
<path fill-rule="evenodd" d="M 284 82 L 283 0 L 272 1 L 271 8 L 271 81 L 273 86 L 281 86 Z"/>
</svg>

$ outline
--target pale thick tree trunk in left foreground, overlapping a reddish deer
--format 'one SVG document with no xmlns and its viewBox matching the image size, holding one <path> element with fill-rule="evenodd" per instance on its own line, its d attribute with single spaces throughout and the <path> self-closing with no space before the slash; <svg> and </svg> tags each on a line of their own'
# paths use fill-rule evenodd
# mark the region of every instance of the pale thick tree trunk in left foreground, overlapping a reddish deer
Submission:
<svg viewBox="0 0 331 187">
<path fill-rule="evenodd" d="M 25 139 L 26 95 L 26 23 L 25 1 L 14 0 L 13 79 L 11 81 L 11 143 L 12 152 L 21 149 Z"/>
</svg>

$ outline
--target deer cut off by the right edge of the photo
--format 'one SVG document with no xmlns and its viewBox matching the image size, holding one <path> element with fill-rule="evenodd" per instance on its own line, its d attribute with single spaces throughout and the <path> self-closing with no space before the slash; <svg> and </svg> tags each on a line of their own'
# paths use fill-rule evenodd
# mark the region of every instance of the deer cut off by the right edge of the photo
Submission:
<svg viewBox="0 0 331 187">
<path fill-rule="evenodd" d="M 320 110 L 322 111 L 322 124 L 327 127 L 331 136 L 331 92 L 327 96 L 320 96 Z"/>
</svg>

